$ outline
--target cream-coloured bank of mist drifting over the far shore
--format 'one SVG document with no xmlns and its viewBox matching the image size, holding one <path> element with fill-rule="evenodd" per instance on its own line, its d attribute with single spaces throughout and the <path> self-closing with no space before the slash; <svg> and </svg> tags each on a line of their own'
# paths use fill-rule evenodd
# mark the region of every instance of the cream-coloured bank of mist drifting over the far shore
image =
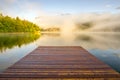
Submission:
<svg viewBox="0 0 120 80">
<path fill-rule="evenodd" d="M 64 33 L 71 32 L 118 32 L 120 13 L 83 13 L 39 16 L 36 24 L 43 28 L 59 27 Z"/>
</svg>

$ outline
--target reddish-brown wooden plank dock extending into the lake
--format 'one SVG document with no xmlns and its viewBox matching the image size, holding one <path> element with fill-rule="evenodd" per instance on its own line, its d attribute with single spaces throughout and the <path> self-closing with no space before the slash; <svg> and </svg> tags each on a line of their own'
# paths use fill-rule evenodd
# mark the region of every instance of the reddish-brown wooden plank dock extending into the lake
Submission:
<svg viewBox="0 0 120 80">
<path fill-rule="evenodd" d="M 120 80 L 120 74 L 79 46 L 40 46 L 0 74 L 0 80 L 81 79 Z"/>
</svg>

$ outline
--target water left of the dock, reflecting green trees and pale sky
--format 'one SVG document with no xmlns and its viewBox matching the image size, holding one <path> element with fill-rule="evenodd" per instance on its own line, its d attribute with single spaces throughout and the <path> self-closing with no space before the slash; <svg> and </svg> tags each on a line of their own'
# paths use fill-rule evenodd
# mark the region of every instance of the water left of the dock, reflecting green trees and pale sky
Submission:
<svg viewBox="0 0 120 80">
<path fill-rule="evenodd" d="M 26 56 L 37 45 L 39 34 L 0 34 L 0 72 Z"/>
</svg>

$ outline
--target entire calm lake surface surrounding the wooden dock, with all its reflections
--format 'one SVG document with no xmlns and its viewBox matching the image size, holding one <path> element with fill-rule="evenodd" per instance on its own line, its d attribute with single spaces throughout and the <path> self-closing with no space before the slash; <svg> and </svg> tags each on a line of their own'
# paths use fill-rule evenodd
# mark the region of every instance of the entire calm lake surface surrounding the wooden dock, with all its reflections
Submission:
<svg viewBox="0 0 120 80">
<path fill-rule="evenodd" d="M 82 46 L 120 72 L 120 33 L 0 34 L 0 72 L 38 46 Z"/>
</svg>

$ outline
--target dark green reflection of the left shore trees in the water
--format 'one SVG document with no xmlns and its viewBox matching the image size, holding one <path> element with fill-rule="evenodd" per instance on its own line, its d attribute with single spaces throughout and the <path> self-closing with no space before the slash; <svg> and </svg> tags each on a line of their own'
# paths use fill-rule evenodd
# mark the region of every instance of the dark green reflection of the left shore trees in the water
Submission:
<svg viewBox="0 0 120 80">
<path fill-rule="evenodd" d="M 29 44 L 40 37 L 39 34 L 0 34 L 0 52 L 6 49 L 12 49 L 15 46 L 21 47 L 23 44 Z"/>
</svg>

